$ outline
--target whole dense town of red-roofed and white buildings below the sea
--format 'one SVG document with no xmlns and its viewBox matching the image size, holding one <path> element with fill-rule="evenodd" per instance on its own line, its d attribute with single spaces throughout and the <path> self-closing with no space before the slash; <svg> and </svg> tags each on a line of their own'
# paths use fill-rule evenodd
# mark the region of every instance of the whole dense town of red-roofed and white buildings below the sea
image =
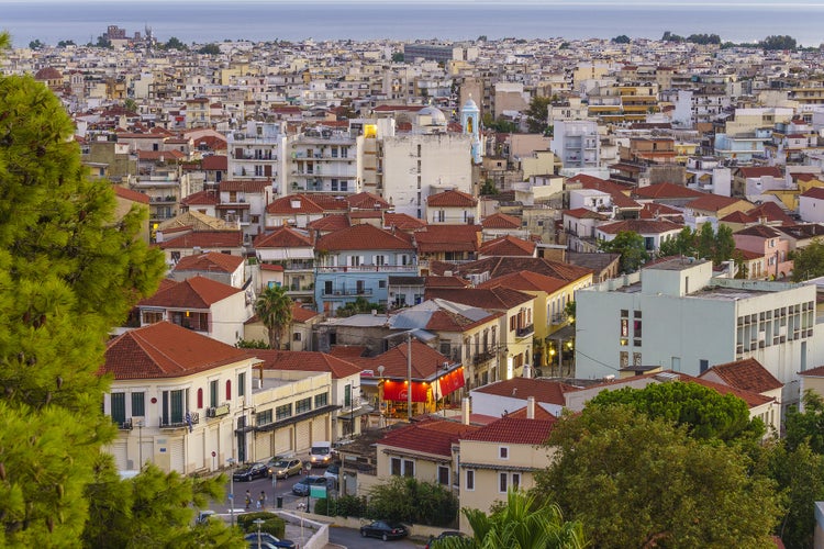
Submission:
<svg viewBox="0 0 824 549">
<path fill-rule="evenodd" d="M 765 438 L 824 396 L 824 281 L 793 261 L 824 236 L 822 49 L 103 37 L 0 69 L 59 98 L 165 257 L 99 372 L 121 471 L 327 441 L 341 494 L 488 511 L 602 391 L 733 394 Z M 708 233 L 732 245 L 678 247 Z"/>
</svg>

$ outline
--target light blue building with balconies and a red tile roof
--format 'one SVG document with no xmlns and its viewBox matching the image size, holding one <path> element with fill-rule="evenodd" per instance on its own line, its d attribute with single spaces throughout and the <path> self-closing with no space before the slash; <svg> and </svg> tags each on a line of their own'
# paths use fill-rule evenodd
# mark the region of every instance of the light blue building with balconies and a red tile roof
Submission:
<svg viewBox="0 0 824 549">
<path fill-rule="evenodd" d="M 321 236 L 314 249 L 315 303 L 329 314 L 357 298 L 387 304 L 390 276 L 417 274 L 412 237 L 402 232 L 353 225 Z"/>
</svg>

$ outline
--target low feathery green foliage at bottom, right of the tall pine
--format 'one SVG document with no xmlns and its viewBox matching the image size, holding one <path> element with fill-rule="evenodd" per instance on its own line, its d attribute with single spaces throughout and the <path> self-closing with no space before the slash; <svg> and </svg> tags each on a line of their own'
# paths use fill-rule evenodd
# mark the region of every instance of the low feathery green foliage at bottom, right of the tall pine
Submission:
<svg viewBox="0 0 824 549">
<path fill-rule="evenodd" d="M 223 497 L 224 475 L 182 477 L 149 463 L 133 479 L 120 480 L 111 458 L 100 458 L 96 481 L 88 486 L 85 547 L 244 547 L 240 533 L 221 520 L 192 527 L 197 508 Z"/>
</svg>

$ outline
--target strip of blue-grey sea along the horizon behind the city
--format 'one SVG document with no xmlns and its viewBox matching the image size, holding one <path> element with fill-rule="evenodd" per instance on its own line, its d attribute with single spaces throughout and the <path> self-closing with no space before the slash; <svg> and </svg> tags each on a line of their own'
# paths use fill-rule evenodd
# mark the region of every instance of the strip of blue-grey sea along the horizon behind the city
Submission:
<svg viewBox="0 0 824 549">
<path fill-rule="evenodd" d="M 789 35 L 799 45 L 824 43 L 824 5 L 795 3 L 671 4 L 668 0 L 625 7 L 615 3 L 559 5 L 541 2 L 277 0 L 0 0 L 0 29 L 13 44 L 38 40 L 56 45 L 97 42 L 109 25 L 127 35 L 151 29 L 162 42 L 223 41 L 552 38 L 660 38 L 665 31 L 688 36 L 717 34 L 722 41 L 754 43 Z"/>
</svg>

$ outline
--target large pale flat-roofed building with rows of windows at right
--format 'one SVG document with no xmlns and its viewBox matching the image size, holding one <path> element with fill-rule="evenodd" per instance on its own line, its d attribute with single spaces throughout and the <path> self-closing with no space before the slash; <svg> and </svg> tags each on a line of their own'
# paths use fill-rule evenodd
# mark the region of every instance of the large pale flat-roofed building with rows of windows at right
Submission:
<svg viewBox="0 0 824 549">
<path fill-rule="evenodd" d="M 576 317 L 579 378 L 630 366 L 699 376 L 755 358 L 788 384 L 824 352 L 814 285 L 713 278 L 710 261 L 671 259 L 580 290 Z"/>
</svg>

